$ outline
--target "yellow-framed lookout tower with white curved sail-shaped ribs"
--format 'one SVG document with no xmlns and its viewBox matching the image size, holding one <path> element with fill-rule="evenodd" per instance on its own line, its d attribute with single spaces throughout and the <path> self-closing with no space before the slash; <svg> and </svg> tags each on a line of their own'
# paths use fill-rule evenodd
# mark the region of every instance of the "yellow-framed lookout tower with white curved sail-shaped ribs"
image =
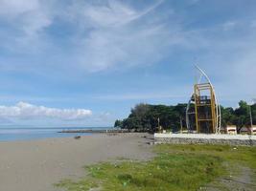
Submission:
<svg viewBox="0 0 256 191">
<path fill-rule="evenodd" d="M 221 130 L 221 107 L 209 77 L 196 66 L 200 76 L 187 106 L 186 121 L 190 132 L 215 134 Z M 202 81 L 204 78 L 204 81 Z"/>
</svg>

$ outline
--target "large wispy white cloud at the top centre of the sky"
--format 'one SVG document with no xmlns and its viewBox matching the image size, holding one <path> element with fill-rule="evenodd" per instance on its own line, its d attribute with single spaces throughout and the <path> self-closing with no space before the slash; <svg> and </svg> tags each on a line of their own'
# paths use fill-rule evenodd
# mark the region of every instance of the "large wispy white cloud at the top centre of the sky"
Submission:
<svg viewBox="0 0 256 191">
<path fill-rule="evenodd" d="M 68 18 L 79 23 L 80 32 L 74 39 L 74 59 L 85 71 L 98 72 L 151 64 L 164 54 L 170 32 L 162 22 L 144 19 L 162 1 L 137 10 L 119 1 L 90 3 L 74 1 Z M 172 11 L 170 11 L 172 12 Z M 142 20 L 143 19 L 143 20 Z"/>
</svg>

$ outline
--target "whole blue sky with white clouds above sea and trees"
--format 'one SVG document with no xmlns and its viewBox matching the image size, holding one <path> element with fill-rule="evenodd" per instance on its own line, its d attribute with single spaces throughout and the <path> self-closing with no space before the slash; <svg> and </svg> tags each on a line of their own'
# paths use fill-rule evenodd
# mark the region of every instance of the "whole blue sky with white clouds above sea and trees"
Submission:
<svg viewBox="0 0 256 191">
<path fill-rule="evenodd" d="M 221 105 L 256 97 L 255 0 L 0 0 L 0 126 L 112 126 L 175 105 L 197 64 Z"/>
</svg>

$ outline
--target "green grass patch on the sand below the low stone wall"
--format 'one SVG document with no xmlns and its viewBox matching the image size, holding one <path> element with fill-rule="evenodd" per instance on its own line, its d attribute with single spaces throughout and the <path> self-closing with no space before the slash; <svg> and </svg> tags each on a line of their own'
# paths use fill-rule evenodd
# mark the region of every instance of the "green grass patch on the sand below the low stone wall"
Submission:
<svg viewBox="0 0 256 191">
<path fill-rule="evenodd" d="M 256 169 L 256 148 L 215 145 L 156 145 L 150 161 L 121 160 L 86 166 L 89 174 L 79 181 L 62 180 L 68 191 L 100 187 L 105 191 L 192 191 L 227 174 L 229 165 Z"/>
</svg>

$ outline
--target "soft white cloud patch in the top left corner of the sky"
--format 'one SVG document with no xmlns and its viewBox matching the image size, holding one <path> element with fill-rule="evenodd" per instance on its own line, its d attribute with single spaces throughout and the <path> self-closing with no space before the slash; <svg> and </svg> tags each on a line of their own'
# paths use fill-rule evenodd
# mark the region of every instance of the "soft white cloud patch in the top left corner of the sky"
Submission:
<svg viewBox="0 0 256 191">
<path fill-rule="evenodd" d="M 39 49 L 45 43 L 41 36 L 43 30 L 53 22 L 50 11 L 50 3 L 47 1 L 0 0 L 0 21 L 8 26 L 6 32 L 6 28 L 0 29 L 3 30 L 1 35 L 5 36 L 3 39 L 0 37 L 3 42 L 1 46 L 12 52 L 23 53 L 28 53 L 28 50 L 33 53 Z M 32 44 L 34 49 L 31 49 Z"/>
</svg>

